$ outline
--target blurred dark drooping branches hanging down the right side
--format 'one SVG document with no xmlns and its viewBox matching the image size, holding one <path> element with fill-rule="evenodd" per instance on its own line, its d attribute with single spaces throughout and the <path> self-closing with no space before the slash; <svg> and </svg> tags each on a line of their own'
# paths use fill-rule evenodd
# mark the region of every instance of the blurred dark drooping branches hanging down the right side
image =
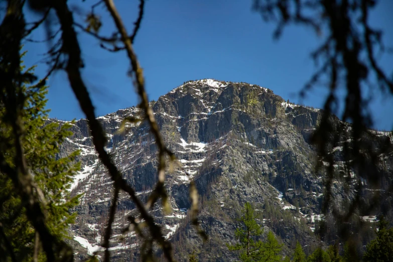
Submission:
<svg viewBox="0 0 393 262">
<path fill-rule="evenodd" d="M 283 29 L 289 25 L 299 25 L 311 28 L 316 37 L 324 36 L 323 43 L 312 53 L 311 58 L 316 65 L 316 71 L 305 83 L 300 95 L 315 86 L 327 84 L 329 95 L 324 104 L 324 111 L 319 126 L 315 130 L 312 142 L 317 148 L 318 156 L 329 165 L 326 170 L 325 194 L 323 211 L 332 212 L 341 225 L 341 236 L 349 235 L 349 222 L 356 210 L 375 208 L 380 201 L 391 196 L 391 171 L 382 171 L 380 166 L 381 154 L 391 154 L 391 141 L 375 143 L 371 132 L 372 118 L 369 113 L 367 89 L 380 91 L 386 95 L 393 94 L 393 79 L 384 72 L 378 64 L 376 51 L 388 51 L 382 42 L 383 32 L 374 29 L 369 23 L 369 13 L 375 8 L 375 0 L 254 0 L 253 10 L 259 12 L 266 22 L 277 23 L 274 38 L 279 38 Z M 339 87 L 346 89 L 344 110 L 340 115 L 341 124 L 334 121 L 332 115 L 338 115 L 337 94 Z M 346 173 L 336 172 L 335 159 L 332 149 L 338 144 L 343 145 L 343 157 L 346 163 Z M 322 170 L 322 161 L 318 164 Z M 349 183 L 351 171 L 357 176 L 354 197 L 347 210 L 340 211 L 333 204 L 331 192 L 334 180 Z M 367 181 L 370 188 L 381 188 L 381 194 L 369 197 L 370 205 L 360 205 L 364 197 L 363 183 Z"/>
</svg>

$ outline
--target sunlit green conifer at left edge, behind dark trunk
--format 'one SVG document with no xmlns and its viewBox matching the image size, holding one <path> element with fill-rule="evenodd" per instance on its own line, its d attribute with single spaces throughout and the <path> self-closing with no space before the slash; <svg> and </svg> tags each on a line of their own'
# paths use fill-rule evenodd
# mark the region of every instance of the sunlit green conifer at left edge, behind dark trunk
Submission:
<svg viewBox="0 0 393 262">
<path fill-rule="evenodd" d="M 24 54 L 22 54 L 23 56 Z M 5 66 L 5 65 L 1 65 Z M 25 67 L 21 66 L 21 71 Z M 32 72 L 34 67 L 26 70 Z M 15 88 L 21 89 L 25 96 L 25 106 L 21 115 L 24 133 L 22 146 L 30 173 L 33 175 L 36 190 L 45 200 L 41 205 L 46 210 L 47 226 L 57 239 L 67 237 L 66 229 L 74 222 L 76 213 L 69 210 L 78 204 L 80 195 L 70 196 L 72 176 L 79 170 L 79 163 L 73 164 L 79 152 L 68 157 L 59 157 L 59 146 L 72 133 L 70 124 L 59 126 L 48 122 L 48 109 L 45 109 L 47 86 L 44 81 L 30 85 L 26 80 L 20 86 L 15 81 Z M 2 121 L 5 107 L 0 105 L 0 137 L 12 144 L 12 128 Z M 9 147 L 2 152 L 10 165 L 13 163 L 15 148 Z M 26 216 L 24 203 L 17 194 L 10 177 L 0 173 L 0 260 L 8 261 L 15 257 L 18 261 L 45 260 L 38 233 Z M 34 255 L 35 253 L 35 255 Z"/>
</svg>

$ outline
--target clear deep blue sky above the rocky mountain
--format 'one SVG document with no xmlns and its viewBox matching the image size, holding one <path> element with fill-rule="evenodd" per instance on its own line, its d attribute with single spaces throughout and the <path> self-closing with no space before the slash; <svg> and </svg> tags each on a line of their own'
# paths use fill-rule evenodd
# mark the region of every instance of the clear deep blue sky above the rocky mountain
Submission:
<svg viewBox="0 0 393 262">
<path fill-rule="evenodd" d="M 72 1 L 71 1 L 72 3 Z M 78 5 L 81 1 L 75 2 Z M 84 2 L 91 5 L 91 1 Z M 118 0 L 117 7 L 128 27 L 138 14 L 138 1 Z M 326 90 L 316 88 L 301 100 L 298 93 L 314 71 L 309 57 L 318 40 L 311 30 L 287 28 L 280 40 L 272 38 L 273 24 L 266 24 L 251 10 L 251 0 L 148 0 L 142 27 L 135 41 L 135 50 L 144 68 L 150 99 L 157 100 L 173 88 L 190 79 L 216 78 L 243 81 L 270 88 L 284 99 L 322 107 Z M 85 14 L 89 11 L 86 5 Z M 109 33 L 112 21 L 103 8 L 98 8 Z M 375 25 L 385 31 L 385 43 L 393 43 L 393 1 L 382 0 L 372 14 Z M 83 14 L 83 11 L 80 12 Z M 28 19 L 34 19 L 29 15 Z M 43 29 L 34 33 L 44 37 Z M 85 68 L 84 80 L 91 93 L 96 114 L 103 115 L 120 108 L 136 105 L 138 97 L 127 77 L 129 62 L 124 53 L 108 53 L 98 42 L 85 34 L 79 35 Z M 45 44 L 27 43 L 27 65 L 37 64 L 45 52 Z M 393 57 L 382 56 L 379 62 L 387 72 L 393 72 Z M 44 76 L 45 64 L 36 73 Z M 83 113 L 71 92 L 64 72 L 49 80 L 51 117 L 82 118 Z M 393 99 L 375 92 L 372 104 L 374 126 L 391 129 Z M 390 96 L 391 97 L 391 96 Z"/>
</svg>

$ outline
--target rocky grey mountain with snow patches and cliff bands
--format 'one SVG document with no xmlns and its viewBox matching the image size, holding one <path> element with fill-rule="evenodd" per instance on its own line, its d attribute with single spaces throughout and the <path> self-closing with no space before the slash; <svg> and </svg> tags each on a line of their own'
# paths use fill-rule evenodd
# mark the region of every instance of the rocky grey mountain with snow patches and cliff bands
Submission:
<svg viewBox="0 0 393 262">
<path fill-rule="evenodd" d="M 152 101 L 151 106 L 166 144 L 196 182 L 200 195 L 198 218 L 209 235 L 209 240 L 203 243 L 190 224 L 190 177 L 177 165 L 170 165 L 166 188 L 172 213 L 165 214 L 159 204 L 151 213 L 162 225 L 165 236 L 174 243 L 177 259 L 187 261 L 188 254 L 195 250 L 199 261 L 234 261 L 237 253 L 229 252 L 225 243 L 234 241 L 234 231 L 239 226 L 236 217 L 245 202 L 254 206 L 264 232 L 273 231 L 284 244 L 285 254 L 291 253 L 296 241 L 308 252 L 316 246 L 331 244 L 337 238 L 334 221 L 331 217 L 323 217 L 321 211 L 324 176 L 315 167 L 318 162 L 323 165 L 326 162 L 317 158 L 310 143 L 310 135 L 321 119 L 321 110 L 286 102 L 264 87 L 213 79 L 184 83 Z M 128 124 L 124 134 L 117 132 L 125 116 L 140 114 L 141 110 L 134 106 L 98 119 L 107 134 L 106 150 L 123 177 L 146 201 L 157 182 L 154 137 L 145 121 Z M 332 116 L 332 119 L 336 127 L 350 128 L 337 117 Z M 77 161 L 82 163 L 82 169 L 72 186 L 72 193 L 83 193 L 83 196 L 75 209 L 78 218 L 70 231 L 70 243 L 76 258 L 83 260 L 100 249 L 112 182 L 94 151 L 86 119 L 76 121 L 71 130 L 73 136 L 62 145 L 60 156 L 77 149 L 81 152 Z M 376 147 L 391 143 L 389 136 L 387 132 L 375 132 Z M 331 145 L 338 171 L 345 166 L 343 143 Z M 380 157 L 384 159 L 383 168 L 391 173 L 392 155 Z M 357 178 L 353 174 L 348 179 L 355 181 Z M 335 203 L 342 208 L 354 196 L 353 190 L 344 190 L 344 186 L 340 182 L 333 184 L 338 199 Z M 364 188 L 367 189 L 366 182 Z M 372 194 L 372 190 L 368 192 Z M 385 201 L 385 205 L 389 204 Z M 122 193 L 117 210 L 111 238 L 112 258 L 114 261 L 134 261 L 141 240 L 133 232 L 122 237 L 121 230 L 127 226 L 127 215 L 138 213 L 134 203 Z M 380 210 L 359 211 L 357 217 L 369 228 L 373 227 L 378 212 Z M 323 236 L 324 242 L 314 232 L 318 231 L 320 220 L 333 225 L 328 235 Z M 372 229 L 366 230 L 372 235 Z"/>
</svg>

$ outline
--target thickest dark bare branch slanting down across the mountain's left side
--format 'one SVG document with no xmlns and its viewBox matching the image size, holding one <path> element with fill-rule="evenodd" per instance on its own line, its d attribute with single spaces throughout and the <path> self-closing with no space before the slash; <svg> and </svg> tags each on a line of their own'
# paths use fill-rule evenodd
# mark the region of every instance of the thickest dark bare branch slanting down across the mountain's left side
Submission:
<svg viewBox="0 0 393 262">
<path fill-rule="evenodd" d="M 68 74 L 68 79 L 70 81 L 70 85 L 72 90 L 74 91 L 79 104 L 86 115 L 86 118 L 89 121 L 89 127 L 91 131 L 91 135 L 93 137 L 93 144 L 98 153 L 98 156 L 104 166 L 108 169 L 108 173 L 111 176 L 112 180 L 115 184 L 119 185 L 121 190 L 127 192 L 132 200 L 135 202 L 138 210 L 141 213 L 141 217 L 146 220 L 146 223 L 149 226 L 152 237 L 163 247 L 164 253 L 170 261 L 173 261 L 172 257 L 172 246 L 171 244 L 165 240 L 162 234 L 161 227 L 154 223 L 153 217 L 148 213 L 145 209 L 144 204 L 137 197 L 135 190 L 127 185 L 126 181 L 121 178 L 119 171 L 116 166 L 111 161 L 109 155 L 104 150 L 104 146 L 106 143 L 106 138 L 104 136 L 102 127 L 97 119 L 95 119 L 94 107 L 92 105 L 90 96 L 87 92 L 87 88 L 82 80 L 81 74 L 79 72 L 79 67 L 82 65 L 82 61 L 80 58 L 81 51 L 78 44 L 78 40 L 76 38 L 76 33 L 72 27 L 73 17 L 72 13 L 69 11 L 67 7 L 67 3 L 63 1 L 52 2 L 53 8 L 56 11 L 56 14 L 59 18 L 60 25 L 62 28 L 62 39 L 63 39 L 63 52 L 68 55 L 68 62 L 66 65 L 66 72 Z M 128 39 L 129 41 L 129 39 Z M 146 93 L 145 99 L 147 101 Z M 149 106 L 147 102 L 147 107 Z M 154 114 L 151 108 L 148 107 L 149 115 L 153 117 Z M 155 125 L 156 131 L 158 132 L 158 136 L 160 138 L 161 145 L 163 146 L 163 141 L 161 136 L 159 135 L 159 129 L 157 123 Z M 164 162 L 165 164 L 165 162 Z M 164 170 L 165 171 L 165 165 Z M 161 178 L 163 178 L 161 176 Z"/>
</svg>

